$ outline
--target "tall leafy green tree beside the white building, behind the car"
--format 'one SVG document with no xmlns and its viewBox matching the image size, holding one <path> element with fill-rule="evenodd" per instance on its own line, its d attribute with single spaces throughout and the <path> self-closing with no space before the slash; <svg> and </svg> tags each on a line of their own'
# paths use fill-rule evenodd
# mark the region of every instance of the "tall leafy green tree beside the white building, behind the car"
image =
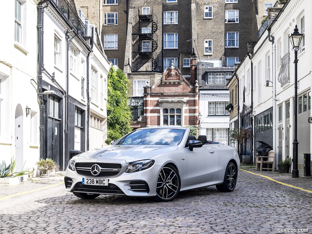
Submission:
<svg viewBox="0 0 312 234">
<path fill-rule="evenodd" d="M 129 133 L 131 110 L 128 106 L 129 97 L 127 95 L 129 80 L 124 73 L 114 67 L 110 68 L 107 76 L 107 140 L 110 144 L 112 140 L 117 140 Z"/>
</svg>

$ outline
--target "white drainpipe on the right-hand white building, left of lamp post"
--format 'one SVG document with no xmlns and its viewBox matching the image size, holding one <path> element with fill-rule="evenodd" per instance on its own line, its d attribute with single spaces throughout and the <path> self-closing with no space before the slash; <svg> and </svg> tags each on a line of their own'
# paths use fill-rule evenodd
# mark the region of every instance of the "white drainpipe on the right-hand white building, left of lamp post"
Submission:
<svg viewBox="0 0 312 234">
<path fill-rule="evenodd" d="M 273 150 L 276 152 L 276 43 L 274 41 L 274 37 L 270 35 L 271 30 L 268 30 L 269 34 L 269 41 L 272 42 L 272 83 L 273 83 Z M 278 157 L 276 157 L 276 160 L 278 161 Z M 278 162 L 277 162 L 278 163 Z M 277 165 L 276 163 L 276 165 Z"/>
</svg>

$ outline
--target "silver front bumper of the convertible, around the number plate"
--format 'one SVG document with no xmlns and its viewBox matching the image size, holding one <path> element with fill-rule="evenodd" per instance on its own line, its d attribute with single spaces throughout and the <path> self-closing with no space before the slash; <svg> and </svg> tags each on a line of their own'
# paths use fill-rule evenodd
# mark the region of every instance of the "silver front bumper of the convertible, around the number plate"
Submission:
<svg viewBox="0 0 312 234">
<path fill-rule="evenodd" d="M 125 163 L 117 176 L 113 177 L 90 177 L 78 174 L 67 168 L 65 186 L 67 192 L 119 194 L 133 197 L 156 196 L 156 183 L 160 166 L 153 165 L 143 171 L 125 173 L 128 163 Z M 83 185 L 82 178 L 108 179 L 108 186 Z"/>
</svg>

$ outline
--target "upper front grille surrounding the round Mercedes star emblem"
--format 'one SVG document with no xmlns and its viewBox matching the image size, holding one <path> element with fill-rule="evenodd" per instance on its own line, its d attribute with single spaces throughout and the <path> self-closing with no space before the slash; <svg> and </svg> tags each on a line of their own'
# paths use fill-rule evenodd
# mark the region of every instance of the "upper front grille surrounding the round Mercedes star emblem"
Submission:
<svg viewBox="0 0 312 234">
<path fill-rule="evenodd" d="M 91 173 L 91 167 L 98 164 L 101 168 L 100 174 L 96 177 L 111 177 L 119 174 L 122 165 L 120 163 L 75 163 L 78 174 L 88 177 L 95 177 Z"/>
</svg>

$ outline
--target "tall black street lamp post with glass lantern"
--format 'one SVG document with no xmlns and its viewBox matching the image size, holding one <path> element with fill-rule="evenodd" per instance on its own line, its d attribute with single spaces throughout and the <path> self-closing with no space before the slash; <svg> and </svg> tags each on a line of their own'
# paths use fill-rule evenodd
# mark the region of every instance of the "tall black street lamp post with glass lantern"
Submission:
<svg viewBox="0 0 312 234">
<path fill-rule="evenodd" d="M 299 33 L 297 25 L 295 27 L 294 33 L 292 33 L 289 37 L 292 50 L 295 51 L 295 103 L 294 103 L 294 142 L 293 142 L 293 170 L 292 170 L 292 178 L 299 177 L 298 170 L 298 139 L 297 139 L 297 92 L 298 92 L 298 77 L 297 77 L 297 65 L 298 65 L 298 50 L 300 49 L 300 42 L 303 34 Z"/>
</svg>

